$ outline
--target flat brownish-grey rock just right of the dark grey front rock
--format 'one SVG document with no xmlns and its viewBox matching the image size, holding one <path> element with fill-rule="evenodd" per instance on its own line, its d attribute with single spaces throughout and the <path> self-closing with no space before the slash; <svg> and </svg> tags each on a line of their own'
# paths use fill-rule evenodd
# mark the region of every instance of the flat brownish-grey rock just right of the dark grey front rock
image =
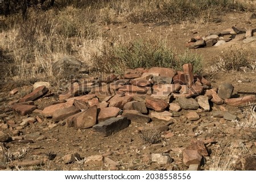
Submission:
<svg viewBox="0 0 256 182">
<path fill-rule="evenodd" d="M 147 123 L 150 121 L 150 117 L 147 115 L 142 115 L 139 111 L 136 110 L 125 110 L 122 113 L 122 116 L 127 117 L 131 121 Z"/>
</svg>

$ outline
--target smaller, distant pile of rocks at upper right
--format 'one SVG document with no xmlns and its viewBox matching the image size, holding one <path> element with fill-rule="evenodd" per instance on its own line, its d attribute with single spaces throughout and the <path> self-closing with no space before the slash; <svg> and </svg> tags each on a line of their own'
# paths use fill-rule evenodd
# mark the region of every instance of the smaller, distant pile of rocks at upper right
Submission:
<svg viewBox="0 0 256 182">
<path fill-rule="evenodd" d="M 246 29 L 246 28 L 232 27 L 229 29 L 225 29 L 221 32 L 212 32 L 210 33 L 209 36 L 206 36 L 206 37 L 201 37 L 201 36 L 192 37 L 191 39 L 188 40 L 188 43 L 186 44 L 186 46 L 189 49 L 219 46 L 234 39 L 242 40 L 243 43 L 250 43 L 256 40 L 256 36 L 254 36 L 254 32 L 256 32 L 256 28 Z M 193 31 L 193 33 L 197 33 L 197 31 Z"/>
</svg>

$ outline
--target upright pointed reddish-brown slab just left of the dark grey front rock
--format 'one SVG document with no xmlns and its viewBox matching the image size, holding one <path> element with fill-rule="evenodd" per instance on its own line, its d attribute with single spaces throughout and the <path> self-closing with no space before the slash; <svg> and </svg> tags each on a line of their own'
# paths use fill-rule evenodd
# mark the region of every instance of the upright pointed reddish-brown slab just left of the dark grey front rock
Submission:
<svg viewBox="0 0 256 182">
<path fill-rule="evenodd" d="M 97 106 L 83 111 L 77 117 L 73 118 L 75 128 L 86 129 L 96 125 L 97 121 Z"/>
</svg>

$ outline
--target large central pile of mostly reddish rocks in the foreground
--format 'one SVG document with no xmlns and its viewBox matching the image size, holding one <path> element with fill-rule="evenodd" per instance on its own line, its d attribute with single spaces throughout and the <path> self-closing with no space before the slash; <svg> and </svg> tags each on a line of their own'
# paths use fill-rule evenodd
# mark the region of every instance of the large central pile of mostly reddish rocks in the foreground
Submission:
<svg viewBox="0 0 256 182">
<path fill-rule="evenodd" d="M 183 65 L 183 71 L 164 67 L 127 70 L 125 75 L 83 80 L 72 83 L 67 91 L 59 95 L 57 103 L 41 110 L 33 100 L 47 94 L 46 86 L 35 88 L 13 105 L 20 115 L 38 113 L 37 120 L 51 118 L 53 124 L 65 121 L 67 126 L 79 129 L 93 127 L 97 132 L 109 136 L 129 126 L 131 121 L 172 120 L 173 112 L 181 109 L 203 109 L 210 111 L 210 103 L 233 106 L 256 102 L 254 95 L 231 98 L 234 87 L 223 83 L 211 88 L 207 79 L 193 74 L 191 64 Z M 189 112 L 189 120 L 198 120 L 196 112 Z"/>
</svg>

